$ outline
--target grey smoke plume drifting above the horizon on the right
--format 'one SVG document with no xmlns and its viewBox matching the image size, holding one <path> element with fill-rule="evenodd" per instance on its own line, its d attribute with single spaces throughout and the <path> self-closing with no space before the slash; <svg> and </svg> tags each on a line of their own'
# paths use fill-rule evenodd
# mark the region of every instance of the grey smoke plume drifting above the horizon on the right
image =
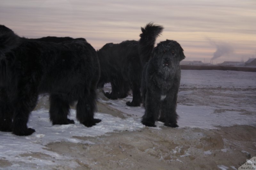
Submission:
<svg viewBox="0 0 256 170">
<path fill-rule="evenodd" d="M 231 45 L 224 42 L 215 42 L 209 38 L 207 39 L 212 45 L 216 47 L 216 51 L 213 53 L 213 57 L 211 58 L 211 60 L 217 59 L 223 55 L 233 54 L 234 48 Z"/>
</svg>

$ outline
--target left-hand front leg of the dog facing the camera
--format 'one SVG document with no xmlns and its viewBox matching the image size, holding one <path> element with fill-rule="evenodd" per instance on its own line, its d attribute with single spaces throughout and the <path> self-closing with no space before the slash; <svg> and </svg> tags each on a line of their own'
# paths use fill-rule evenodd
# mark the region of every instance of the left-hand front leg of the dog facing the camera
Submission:
<svg viewBox="0 0 256 170">
<path fill-rule="evenodd" d="M 159 115 L 160 103 L 154 98 L 154 95 L 147 91 L 145 99 L 145 114 L 141 123 L 146 126 L 156 127 L 155 122 Z"/>
</svg>

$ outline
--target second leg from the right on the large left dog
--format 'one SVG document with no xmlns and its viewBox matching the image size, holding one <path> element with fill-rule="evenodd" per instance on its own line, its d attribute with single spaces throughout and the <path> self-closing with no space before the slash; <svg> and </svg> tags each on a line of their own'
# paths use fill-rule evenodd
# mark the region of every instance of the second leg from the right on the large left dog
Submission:
<svg viewBox="0 0 256 170">
<path fill-rule="evenodd" d="M 50 120 L 52 124 L 74 124 L 74 120 L 68 119 L 69 102 L 62 95 L 50 96 Z"/>
</svg>

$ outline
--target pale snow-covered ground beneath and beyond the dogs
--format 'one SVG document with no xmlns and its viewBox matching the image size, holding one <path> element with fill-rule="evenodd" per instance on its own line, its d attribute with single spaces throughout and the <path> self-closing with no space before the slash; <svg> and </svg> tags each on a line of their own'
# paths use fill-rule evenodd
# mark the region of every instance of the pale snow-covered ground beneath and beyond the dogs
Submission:
<svg viewBox="0 0 256 170">
<path fill-rule="evenodd" d="M 108 84 L 105 91 L 109 89 L 111 88 Z M 76 121 L 75 110 L 71 110 L 70 114 L 70 118 L 75 120 L 75 124 L 52 126 L 49 121 L 46 98 L 44 96 L 40 99 L 39 106 L 30 115 L 28 127 L 36 130 L 31 136 L 19 137 L 12 133 L 0 132 L 0 169 L 41 169 L 73 159 L 67 154 L 61 155 L 47 149 L 47 145 L 52 142 L 93 145 L 94 143 L 90 139 L 84 140 L 84 137 L 96 138 L 110 132 L 123 133 L 146 128 L 140 123 L 144 108 L 125 105 L 127 101 L 132 100 L 132 96 L 120 100 L 108 100 L 99 95 L 99 103 L 113 108 L 113 112 L 120 111 L 121 115 L 116 117 L 115 114 L 102 113 L 99 107 L 99 112 L 95 114 L 95 117 L 100 118 L 102 122 L 91 128 Z M 180 126 L 178 129 L 214 130 L 220 126 L 256 126 L 255 109 L 255 72 L 181 71 L 177 107 L 178 125 Z M 157 127 L 151 129 L 161 131 L 165 128 L 161 122 L 157 122 L 156 125 Z M 31 153 L 38 152 L 54 157 L 56 161 L 44 159 L 42 156 L 31 156 Z M 80 165 L 76 161 L 68 163 L 70 169 L 78 166 Z M 222 168 L 223 166 L 220 165 L 220 169 Z"/>
</svg>

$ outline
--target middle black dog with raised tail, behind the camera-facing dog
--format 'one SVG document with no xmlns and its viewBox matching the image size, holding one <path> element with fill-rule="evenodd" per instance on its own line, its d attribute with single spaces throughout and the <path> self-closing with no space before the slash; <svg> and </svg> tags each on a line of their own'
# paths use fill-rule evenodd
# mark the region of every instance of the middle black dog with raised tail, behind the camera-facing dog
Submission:
<svg viewBox="0 0 256 170">
<path fill-rule="evenodd" d="M 145 28 L 141 28 L 143 36 L 140 41 L 144 41 L 148 46 L 155 45 L 156 37 L 162 32 L 163 28 L 159 25 L 149 23 Z M 148 41 L 148 39 L 152 39 Z M 150 44 L 152 43 L 153 44 Z M 127 102 L 128 106 L 140 106 L 140 84 L 141 73 L 144 60 L 140 58 L 140 49 L 138 41 L 127 40 L 119 44 L 108 43 L 97 51 L 101 76 L 98 84 L 103 88 L 105 83 L 110 82 L 112 87 L 111 93 L 104 93 L 110 99 L 124 98 L 132 89 L 132 102 Z"/>
</svg>

